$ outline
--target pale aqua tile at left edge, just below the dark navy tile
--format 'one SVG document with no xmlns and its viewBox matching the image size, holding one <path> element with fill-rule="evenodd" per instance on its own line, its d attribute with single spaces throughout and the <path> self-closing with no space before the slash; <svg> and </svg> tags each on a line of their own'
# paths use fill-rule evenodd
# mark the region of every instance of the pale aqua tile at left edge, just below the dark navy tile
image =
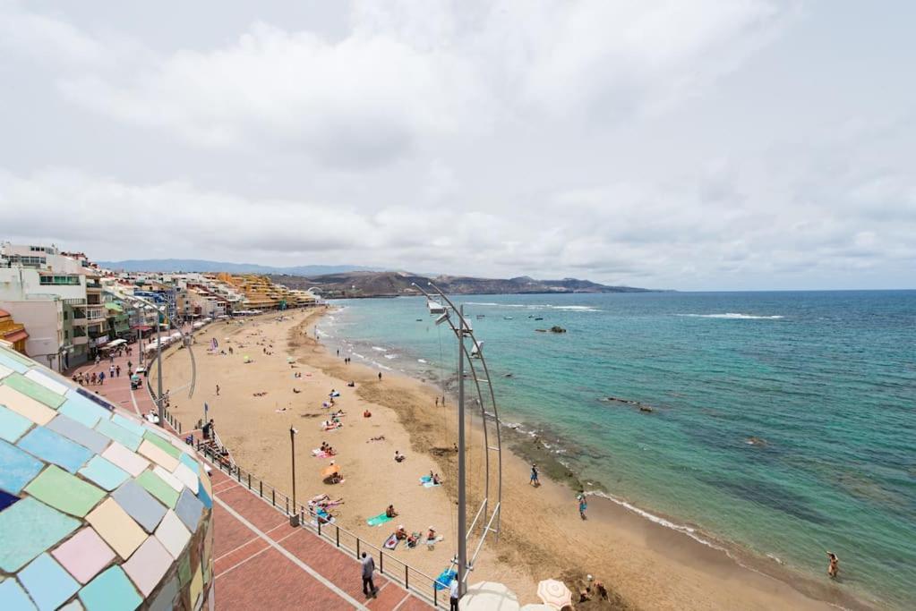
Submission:
<svg viewBox="0 0 916 611">
<path fill-rule="evenodd" d="M 37 498 L 23 498 L 0 512 L 0 541 L 3 541 L 0 571 L 18 571 L 79 525 L 79 520 L 48 507 Z"/>
</svg>

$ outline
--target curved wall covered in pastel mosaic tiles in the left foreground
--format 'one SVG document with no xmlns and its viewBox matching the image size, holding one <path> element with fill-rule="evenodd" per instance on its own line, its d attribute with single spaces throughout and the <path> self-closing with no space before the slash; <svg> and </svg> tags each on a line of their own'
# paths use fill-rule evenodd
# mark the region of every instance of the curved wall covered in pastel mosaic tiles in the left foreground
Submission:
<svg viewBox="0 0 916 611">
<path fill-rule="evenodd" d="M 0 344 L 0 609 L 212 604 L 191 448 Z"/>
</svg>

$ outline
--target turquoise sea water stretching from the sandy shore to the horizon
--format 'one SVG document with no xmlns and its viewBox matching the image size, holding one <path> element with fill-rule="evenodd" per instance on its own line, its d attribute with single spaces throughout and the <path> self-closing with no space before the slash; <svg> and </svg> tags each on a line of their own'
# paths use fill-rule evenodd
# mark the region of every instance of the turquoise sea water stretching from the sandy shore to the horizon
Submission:
<svg viewBox="0 0 916 611">
<path fill-rule="evenodd" d="M 540 431 L 583 478 L 818 579 L 834 551 L 845 587 L 916 606 L 916 292 L 461 302 L 503 421 Z M 453 371 L 453 338 L 422 300 L 336 303 L 320 332 L 354 359 Z M 552 325 L 568 332 L 534 330 Z"/>
</svg>

